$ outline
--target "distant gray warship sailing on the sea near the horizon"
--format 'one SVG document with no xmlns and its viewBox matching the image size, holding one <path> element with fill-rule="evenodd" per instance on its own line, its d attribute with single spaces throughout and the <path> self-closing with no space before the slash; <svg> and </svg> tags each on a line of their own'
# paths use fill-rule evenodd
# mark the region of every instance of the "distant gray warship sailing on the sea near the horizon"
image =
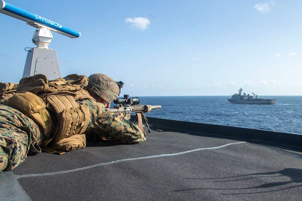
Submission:
<svg viewBox="0 0 302 201">
<path fill-rule="evenodd" d="M 254 93 L 253 96 L 249 94 L 246 95 L 245 92 L 242 94 L 242 89 L 238 90 L 239 93 L 235 93 L 231 99 L 227 99 L 230 103 L 240 103 L 240 104 L 276 104 L 277 99 L 261 99 Z M 255 97 L 255 98 L 254 98 Z"/>
</svg>

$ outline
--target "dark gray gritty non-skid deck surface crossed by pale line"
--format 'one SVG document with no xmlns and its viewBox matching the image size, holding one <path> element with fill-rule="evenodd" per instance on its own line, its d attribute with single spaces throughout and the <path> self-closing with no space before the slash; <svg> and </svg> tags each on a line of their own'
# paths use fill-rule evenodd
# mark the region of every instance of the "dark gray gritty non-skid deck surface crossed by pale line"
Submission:
<svg viewBox="0 0 302 201">
<path fill-rule="evenodd" d="M 153 130 L 137 145 L 88 143 L 64 155 L 29 156 L 13 173 L 66 171 L 236 142 Z M 238 143 L 18 181 L 32 200 L 297 200 L 302 195 L 301 159 L 300 152 Z"/>
</svg>

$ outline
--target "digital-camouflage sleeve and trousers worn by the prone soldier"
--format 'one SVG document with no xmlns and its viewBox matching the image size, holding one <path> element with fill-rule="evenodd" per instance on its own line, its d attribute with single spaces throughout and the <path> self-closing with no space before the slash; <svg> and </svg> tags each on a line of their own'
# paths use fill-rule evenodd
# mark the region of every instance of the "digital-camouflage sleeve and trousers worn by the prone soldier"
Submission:
<svg viewBox="0 0 302 201">
<path fill-rule="evenodd" d="M 90 120 L 86 131 L 97 136 L 120 140 L 125 144 L 141 143 L 146 138 L 140 129 L 123 117 L 105 111 L 104 105 L 92 100 L 78 101 L 79 105 L 88 103 Z M 43 133 L 31 118 L 17 109 L 0 105 L 0 172 L 12 170 L 26 158 L 28 152 L 41 152 Z"/>
</svg>

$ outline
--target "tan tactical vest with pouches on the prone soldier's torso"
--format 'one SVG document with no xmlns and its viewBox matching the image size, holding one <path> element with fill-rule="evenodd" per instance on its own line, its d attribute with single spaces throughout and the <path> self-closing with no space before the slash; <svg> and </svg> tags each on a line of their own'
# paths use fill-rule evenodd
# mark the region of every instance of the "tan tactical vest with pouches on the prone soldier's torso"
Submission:
<svg viewBox="0 0 302 201">
<path fill-rule="evenodd" d="M 86 90 L 82 89 L 87 82 L 88 78 L 85 75 L 77 74 L 51 81 L 48 81 L 43 74 L 24 77 L 20 80 L 16 93 L 29 91 L 36 94 L 46 103 L 50 113 L 56 115 L 57 126 L 53 130 L 53 137 L 45 141 L 43 146 L 48 145 L 61 152 L 86 146 L 85 134 L 82 133 L 88 126 L 90 113 L 88 104 L 79 105 L 77 101 L 84 99 L 95 101 Z M 48 152 L 56 152 L 56 150 L 47 149 Z"/>
</svg>

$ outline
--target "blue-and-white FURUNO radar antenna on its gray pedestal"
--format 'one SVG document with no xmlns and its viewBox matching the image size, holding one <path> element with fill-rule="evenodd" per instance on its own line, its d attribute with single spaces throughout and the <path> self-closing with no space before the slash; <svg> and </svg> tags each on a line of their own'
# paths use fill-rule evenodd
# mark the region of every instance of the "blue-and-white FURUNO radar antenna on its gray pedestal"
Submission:
<svg viewBox="0 0 302 201">
<path fill-rule="evenodd" d="M 61 77 L 56 51 L 48 47 L 53 39 L 52 31 L 70 38 L 78 38 L 81 33 L 3 0 L 0 0 L 0 13 L 22 20 L 27 25 L 36 28 L 32 41 L 37 47 L 27 52 L 23 77 L 35 74 L 45 74 L 49 80 Z"/>
</svg>

